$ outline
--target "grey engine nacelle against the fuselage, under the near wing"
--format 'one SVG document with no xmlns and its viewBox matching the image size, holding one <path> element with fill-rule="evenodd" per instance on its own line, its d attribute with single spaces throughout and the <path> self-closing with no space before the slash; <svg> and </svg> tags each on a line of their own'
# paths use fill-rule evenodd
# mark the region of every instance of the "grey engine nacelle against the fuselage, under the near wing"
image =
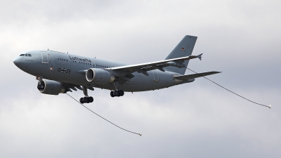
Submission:
<svg viewBox="0 0 281 158">
<path fill-rule="evenodd" d="M 115 81 L 115 76 L 106 70 L 91 68 L 86 72 L 86 79 L 95 84 L 107 84 Z"/>
</svg>

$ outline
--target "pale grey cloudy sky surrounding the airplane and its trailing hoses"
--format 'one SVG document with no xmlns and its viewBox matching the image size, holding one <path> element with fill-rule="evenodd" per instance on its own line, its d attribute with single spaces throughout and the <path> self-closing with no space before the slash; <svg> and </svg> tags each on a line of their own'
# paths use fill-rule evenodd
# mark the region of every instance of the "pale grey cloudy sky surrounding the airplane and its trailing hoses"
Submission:
<svg viewBox="0 0 281 158">
<path fill-rule="evenodd" d="M 281 157 L 281 1 L 0 1 L 0 157 Z M 188 67 L 206 79 L 111 98 L 92 114 L 39 93 L 13 58 L 51 49 L 136 64 L 197 36 Z M 186 74 L 190 72 L 187 71 Z M 70 93 L 81 98 L 81 91 Z"/>
</svg>

